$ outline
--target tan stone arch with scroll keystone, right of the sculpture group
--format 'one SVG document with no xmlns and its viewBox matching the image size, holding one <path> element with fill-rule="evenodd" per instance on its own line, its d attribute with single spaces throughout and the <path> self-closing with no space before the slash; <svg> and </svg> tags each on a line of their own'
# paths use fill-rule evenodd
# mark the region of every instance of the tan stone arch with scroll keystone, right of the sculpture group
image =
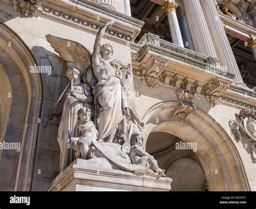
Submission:
<svg viewBox="0 0 256 209">
<path fill-rule="evenodd" d="M 240 157 L 226 131 L 200 109 L 185 122 L 172 117 L 177 102 L 160 102 L 143 117 L 144 146 L 150 133 L 161 131 L 179 137 L 184 142 L 196 142 L 210 191 L 249 191 Z M 173 128 L 171 128 L 173 127 Z"/>
</svg>

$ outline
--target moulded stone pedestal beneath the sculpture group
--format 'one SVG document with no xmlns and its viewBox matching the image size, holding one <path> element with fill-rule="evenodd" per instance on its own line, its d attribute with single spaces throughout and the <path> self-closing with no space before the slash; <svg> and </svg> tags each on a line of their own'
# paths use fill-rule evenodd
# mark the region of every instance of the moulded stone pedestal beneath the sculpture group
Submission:
<svg viewBox="0 0 256 209">
<path fill-rule="evenodd" d="M 103 159 L 104 161 L 104 159 Z M 104 163 L 76 159 L 52 182 L 49 191 L 170 191 L 172 179 L 107 169 Z"/>
</svg>

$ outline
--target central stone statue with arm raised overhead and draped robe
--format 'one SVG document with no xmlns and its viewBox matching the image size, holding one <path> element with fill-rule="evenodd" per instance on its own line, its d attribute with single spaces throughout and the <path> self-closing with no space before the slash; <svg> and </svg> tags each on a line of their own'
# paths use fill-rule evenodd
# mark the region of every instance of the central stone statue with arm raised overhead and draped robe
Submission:
<svg viewBox="0 0 256 209">
<path fill-rule="evenodd" d="M 122 81 L 110 64 L 113 47 L 110 44 L 101 45 L 107 27 L 113 23 L 111 21 L 104 24 L 96 36 L 92 69 L 98 83 L 92 88 L 92 93 L 96 105 L 95 124 L 99 131 L 98 139 L 124 143 L 130 139 L 133 132 L 138 133 L 139 129 L 132 118 L 132 108 L 126 99 Z"/>
</svg>

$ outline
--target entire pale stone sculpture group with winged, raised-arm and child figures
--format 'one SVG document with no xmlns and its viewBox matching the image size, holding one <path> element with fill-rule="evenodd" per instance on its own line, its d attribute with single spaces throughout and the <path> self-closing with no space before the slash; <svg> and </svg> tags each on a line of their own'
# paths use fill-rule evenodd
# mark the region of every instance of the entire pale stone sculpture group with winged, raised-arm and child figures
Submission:
<svg viewBox="0 0 256 209">
<path fill-rule="evenodd" d="M 85 163 L 107 162 L 107 168 L 165 176 L 153 156 L 142 149 L 143 122 L 127 98 L 132 83 L 131 64 L 111 60 L 113 47 L 102 45 L 104 33 L 113 23 L 100 27 L 92 54 L 75 41 L 46 35 L 66 61 L 66 75 L 71 81 L 57 137 L 60 171 L 81 158 Z"/>
</svg>

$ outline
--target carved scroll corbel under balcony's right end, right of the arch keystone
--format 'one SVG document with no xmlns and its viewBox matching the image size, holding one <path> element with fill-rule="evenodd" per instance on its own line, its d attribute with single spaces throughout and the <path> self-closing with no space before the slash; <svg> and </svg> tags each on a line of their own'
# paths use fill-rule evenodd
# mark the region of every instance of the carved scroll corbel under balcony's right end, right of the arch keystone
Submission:
<svg viewBox="0 0 256 209">
<path fill-rule="evenodd" d="M 218 105 L 221 94 L 223 94 L 228 87 L 228 83 L 216 78 L 206 83 L 201 89 L 200 94 L 203 94 L 206 97 L 206 100 L 214 107 L 215 105 Z"/>
</svg>

